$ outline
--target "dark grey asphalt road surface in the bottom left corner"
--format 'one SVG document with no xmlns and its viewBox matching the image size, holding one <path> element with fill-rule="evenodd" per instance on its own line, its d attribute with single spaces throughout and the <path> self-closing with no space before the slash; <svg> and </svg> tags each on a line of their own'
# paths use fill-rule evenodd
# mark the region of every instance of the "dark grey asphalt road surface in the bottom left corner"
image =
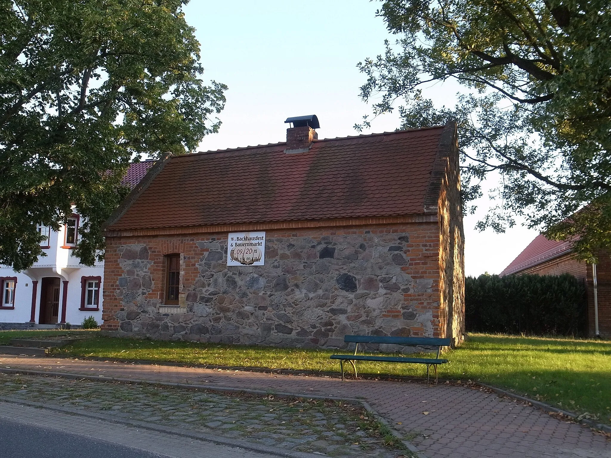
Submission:
<svg viewBox="0 0 611 458">
<path fill-rule="evenodd" d="M 85 420 L 79 418 L 78 420 Z M 0 418 L 2 458 L 159 458 L 124 445 Z"/>
</svg>

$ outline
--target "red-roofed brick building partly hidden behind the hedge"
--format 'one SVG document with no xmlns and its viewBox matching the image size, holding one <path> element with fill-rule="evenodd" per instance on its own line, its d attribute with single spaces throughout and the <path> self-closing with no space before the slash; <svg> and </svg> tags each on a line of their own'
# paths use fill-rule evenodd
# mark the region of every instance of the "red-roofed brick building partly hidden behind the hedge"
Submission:
<svg viewBox="0 0 611 458">
<path fill-rule="evenodd" d="M 511 274 L 571 274 L 582 280 L 585 283 L 588 297 L 588 335 L 596 335 L 596 321 L 598 321 L 598 335 L 611 337 L 611 256 L 609 253 L 600 252 L 598 263 L 593 266 L 576 259 L 570 241 L 549 240 L 540 234 L 500 273 L 501 276 Z"/>
</svg>

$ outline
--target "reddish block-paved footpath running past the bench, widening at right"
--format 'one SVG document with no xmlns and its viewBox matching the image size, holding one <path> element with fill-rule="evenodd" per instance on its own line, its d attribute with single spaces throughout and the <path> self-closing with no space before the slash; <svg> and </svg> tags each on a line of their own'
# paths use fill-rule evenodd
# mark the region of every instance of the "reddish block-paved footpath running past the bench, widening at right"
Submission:
<svg viewBox="0 0 611 458">
<path fill-rule="evenodd" d="M 3 366 L 366 399 L 429 457 L 611 458 L 611 442 L 587 427 L 463 386 L 26 356 Z"/>
</svg>

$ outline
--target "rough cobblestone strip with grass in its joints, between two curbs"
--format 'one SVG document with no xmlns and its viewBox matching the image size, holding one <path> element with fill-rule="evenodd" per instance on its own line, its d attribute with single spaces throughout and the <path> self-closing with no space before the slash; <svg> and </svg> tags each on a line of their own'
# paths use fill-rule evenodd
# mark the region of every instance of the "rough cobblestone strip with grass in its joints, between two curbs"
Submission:
<svg viewBox="0 0 611 458">
<path fill-rule="evenodd" d="M 333 457 L 395 458 L 362 406 L 155 385 L 0 375 L 0 395 Z"/>
</svg>

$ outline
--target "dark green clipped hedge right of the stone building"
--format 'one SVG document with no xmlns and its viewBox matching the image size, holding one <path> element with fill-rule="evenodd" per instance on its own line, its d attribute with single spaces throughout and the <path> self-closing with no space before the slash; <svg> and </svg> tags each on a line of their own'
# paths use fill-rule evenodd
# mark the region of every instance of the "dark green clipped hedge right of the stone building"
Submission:
<svg viewBox="0 0 611 458">
<path fill-rule="evenodd" d="M 585 285 L 573 275 L 467 277 L 466 329 L 530 335 L 584 335 Z"/>
</svg>

